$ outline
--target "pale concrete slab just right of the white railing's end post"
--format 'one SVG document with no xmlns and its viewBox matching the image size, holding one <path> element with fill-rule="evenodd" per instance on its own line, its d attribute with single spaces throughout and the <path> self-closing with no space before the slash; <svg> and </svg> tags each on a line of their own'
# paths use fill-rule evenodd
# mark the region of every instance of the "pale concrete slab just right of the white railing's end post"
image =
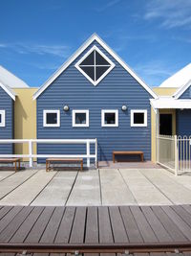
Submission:
<svg viewBox="0 0 191 256">
<path fill-rule="evenodd" d="M 103 205 L 135 205 L 136 199 L 117 170 L 99 170 Z"/>
</svg>

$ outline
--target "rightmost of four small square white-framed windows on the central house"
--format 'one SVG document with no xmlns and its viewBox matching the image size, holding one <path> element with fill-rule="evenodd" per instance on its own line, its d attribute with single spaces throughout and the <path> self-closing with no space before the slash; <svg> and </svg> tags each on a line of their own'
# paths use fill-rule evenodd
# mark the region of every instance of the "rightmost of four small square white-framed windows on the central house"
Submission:
<svg viewBox="0 0 191 256">
<path fill-rule="evenodd" d="M 147 110 L 131 110 L 131 127 L 147 127 Z"/>
</svg>

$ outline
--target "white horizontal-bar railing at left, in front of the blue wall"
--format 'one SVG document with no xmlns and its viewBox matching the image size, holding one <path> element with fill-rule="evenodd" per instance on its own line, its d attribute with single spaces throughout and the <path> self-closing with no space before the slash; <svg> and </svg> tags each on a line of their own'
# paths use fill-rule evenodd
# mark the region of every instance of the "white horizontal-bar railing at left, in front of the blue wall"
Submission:
<svg viewBox="0 0 191 256">
<path fill-rule="evenodd" d="M 38 154 L 33 153 L 33 145 L 37 144 L 81 144 L 86 145 L 85 154 Z M 29 158 L 30 167 L 33 166 L 33 158 L 46 158 L 46 157 L 82 157 L 87 159 L 87 167 L 90 167 L 90 159 L 95 159 L 97 167 L 97 139 L 0 139 L 1 144 L 28 144 L 28 154 L 0 154 L 0 157 L 26 157 Z M 95 153 L 91 154 L 91 144 L 95 145 Z"/>
</svg>

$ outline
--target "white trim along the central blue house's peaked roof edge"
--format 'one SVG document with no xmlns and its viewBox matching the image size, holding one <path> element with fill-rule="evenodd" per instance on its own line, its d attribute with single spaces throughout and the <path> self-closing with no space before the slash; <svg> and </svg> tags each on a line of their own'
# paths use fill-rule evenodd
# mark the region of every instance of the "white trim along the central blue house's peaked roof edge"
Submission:
<svg viewBox="0 0 191 256">
<path fill-rule="evenodd" d="M 93 34 L 85 43 L 83 43 L 78 50 L 74 53 L 74 55 L 69 58 L 54 74 L 53 76 L 48 79 L 33 95 L 33 100 L 37 99 L 40 94 L 46 90 L 46 88 L 77 58 L 93 41 L 97 41 L 113 58 L 117 60 L 117 62 L 130 73 L 130 75 L 135 78 L 142 87 L 150 93 L 152 97 L 155 99 L 158 96 L 153 92 L 153 90 L 144 82 L 142 81 L 138 75 L 121 59 L 117 56 L 117 54 L 96 34 Z"/>
</svg>

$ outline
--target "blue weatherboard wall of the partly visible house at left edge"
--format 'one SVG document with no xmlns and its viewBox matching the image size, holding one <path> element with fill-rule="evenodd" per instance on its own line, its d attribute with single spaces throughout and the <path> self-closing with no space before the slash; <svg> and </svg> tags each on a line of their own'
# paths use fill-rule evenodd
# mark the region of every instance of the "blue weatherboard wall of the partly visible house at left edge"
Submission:
<svg viewBox="0 0 191 256">
<path fill-rule="evenodd" d="M 13 138 L 13 101 L 11 97 L 0 87 L 0 110 L 6 110 L 6 126 L 0 127 L 0 139 Z M 11 144 L 0 144 L 0 154 L 12 153 Z"/>
</svg>

